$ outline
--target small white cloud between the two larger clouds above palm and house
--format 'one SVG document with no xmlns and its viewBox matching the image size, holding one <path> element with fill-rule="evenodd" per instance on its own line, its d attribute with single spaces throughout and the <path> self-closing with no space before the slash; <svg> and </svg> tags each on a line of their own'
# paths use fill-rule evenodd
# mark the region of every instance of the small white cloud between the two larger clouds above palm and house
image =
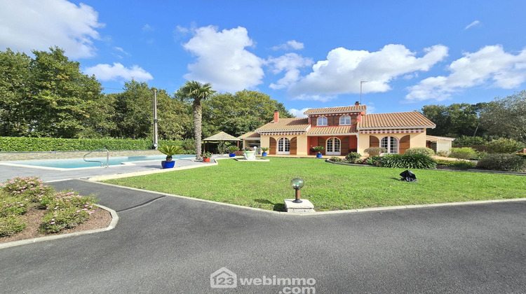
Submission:
<svg viewBox="0 0 526 294">
<path fill-rule="evenodd" d="M 271 83 L 271 89 L 283 89 L 290 84 L 299 80 L 299 69 L 305 66 L 311 66 L 314 62 L 311 58 L 305 58 L 296 53 L 287 53 L 280 57 L 269 57 L 267 62 L 271 64 L 272 72 L 277 74 L 285 71 L 285 76 L 276 83 Z"/>
</svg>

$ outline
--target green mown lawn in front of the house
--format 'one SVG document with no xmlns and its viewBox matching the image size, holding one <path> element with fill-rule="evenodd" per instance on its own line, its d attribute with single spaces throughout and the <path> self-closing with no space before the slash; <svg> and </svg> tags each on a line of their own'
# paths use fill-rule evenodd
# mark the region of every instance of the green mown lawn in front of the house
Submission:
<svg viewBox="0 0 526 294">
<path fill-rule="evenodd" d="M 104 181 L 121 186 L 283 211 L 293 198 L 290 180 L 305 181 L 302 198 L 316 210 L 526 197 L 526 177 L 414 169 L 417 183 L 400 181 L 404 169 L 333 165 L 314 158 L 270 162 L 219 160 L 219 165 Z"/>
</svg>

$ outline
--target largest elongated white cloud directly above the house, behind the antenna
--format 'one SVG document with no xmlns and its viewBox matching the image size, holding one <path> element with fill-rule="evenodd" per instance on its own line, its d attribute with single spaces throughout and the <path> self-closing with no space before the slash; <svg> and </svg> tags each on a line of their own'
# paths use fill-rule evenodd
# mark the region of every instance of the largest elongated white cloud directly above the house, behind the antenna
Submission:
<svg viewBox="0 0 526 294">
<path fill-rule="evenodd" d="M 327 101 L 337 94 L 359 93 L 360 80 L 367 80 L 363 92 L 386 92 L 389 83 L 414 71 L 428 71 L 447 56 L 447 47 L 433 45 L 416 57 L 404 45 L 389 44 L 376 52 L 336 48 L 327 59 L 312 66 L 312 72 L 289 87 L 292 99 Z"/>
</svg>

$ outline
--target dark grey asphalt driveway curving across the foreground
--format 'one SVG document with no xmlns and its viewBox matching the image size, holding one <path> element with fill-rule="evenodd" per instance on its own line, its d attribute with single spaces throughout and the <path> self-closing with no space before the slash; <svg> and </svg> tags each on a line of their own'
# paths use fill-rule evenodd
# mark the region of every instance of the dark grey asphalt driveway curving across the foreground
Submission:
<svg viewBox="0 0 526 294">
<path fill-rule="evenodd" d="M 316 293 L 526 289 L 525 202 L 286 216 L 87 181 L 53 185 L 99 193 L 101 204 L 119 211 L 119 224 L 1 249 L 2 293 L 283 290 L 210 288 L 210 274 L 221 267 L 238 279 L 316 279 Z"/>
</svg>

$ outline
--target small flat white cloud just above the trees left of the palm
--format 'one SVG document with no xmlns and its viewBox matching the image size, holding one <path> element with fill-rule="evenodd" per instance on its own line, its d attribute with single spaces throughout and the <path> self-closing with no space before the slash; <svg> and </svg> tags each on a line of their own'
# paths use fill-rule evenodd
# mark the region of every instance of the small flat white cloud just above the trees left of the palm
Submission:
<svg viewBox="0 0 526 294">
<path fill-rule="evenodd" d="M 88 75 L 94 74 L 98 80 L 131 80 L 132 78 L 140 82 L 153 80 L 154 77 L 140 66 L 133 65 L 130 68 L 120 63 L 97 64 L 84 70 Z"/>
</svg>

